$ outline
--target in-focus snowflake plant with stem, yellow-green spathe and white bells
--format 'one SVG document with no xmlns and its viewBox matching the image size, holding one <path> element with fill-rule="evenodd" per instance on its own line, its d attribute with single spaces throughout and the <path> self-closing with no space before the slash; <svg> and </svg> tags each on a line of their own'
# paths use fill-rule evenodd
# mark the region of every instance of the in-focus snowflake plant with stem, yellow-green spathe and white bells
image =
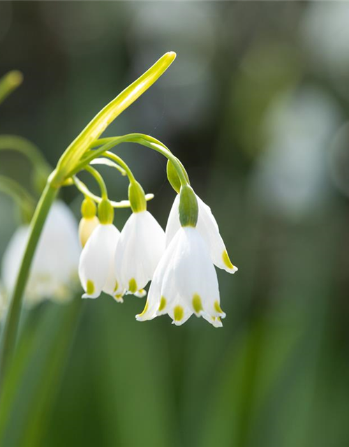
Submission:
<svg viewBox="0 0 349 447">
<path fill-rule="evenodd" d="M 15 250 L 21 253 L 22 261 L 10 254 L 8 259 L 12 256 L 15 261 L 4 261 L 7 263 L 5 270 L 13 263 L 13 270 L 17 270 L 18 274 L 16 279 L 12 276 L 8 280 L 12 296 L 1 339 L 2 374 L 13 352 L 29 270 L 45 271 L 42 267 L 35 268 L 35 263 L 39 265 L 40 260 L 34 255 L 37 246 L 40 251 L 40 244 L 43 245 L 45 232 L 48 231 L 45 226 L 47 215 L 52 206 L 52 210 L 59 206 L 57 194 L 59 189 L 66 186 L 76 186 L 83 195 L 82 219 L 78 229 L 82 247 L 78 261 L 78 275 L 84 289 L 82 298 L 98 298 L 102 292 L 111 295 L 116 302 L 123 302 L 130 294 L 142 298 L 147 295 L 145 288 L 150 282 L 144 309 L 136 316 L 138 321 L 168 314 L 172 323 L 181 325 L 195 314 L 215 327 L 222 325 L 221 319 L 225 313 L 221 309 L 215 266 L 230 273 L 237 268 L 230 262 L 216 219 L 210 208 L 195 194 L 183 164 L 168 147 L 149 135 L 131 133 L 101 138 L 107 126 L 154 84 L 175 57 L 174 52 L 164 54 L 154 66 L 98 112 L 68 146 L 57 167 L 48 176 L 30 226 L 26 227 L 26 234 L 20 238 L 20 243 L 25 247 Z M 148 147 L 168 159 L 168 180 L 177 195 L 165 231 L 147 210 L 147 201 L 153 195 L 144 193 L 125 161 L 111 152 L 123 142 Z M 128 200 L 110 200 L 107 186 L 98 171 L 100 165 L 110 166 L 127 177 Z M 78 174 L 83 170 L 94 177 L 101 195 L 92 193 L 79 178 Z M 119 230 L 114 226 L 114 212 L 121 207 L 131 207 L 131 215 L 124 228 Z M 51 213 L 50 219 L 57 218 Z M 70 241 L 70 246 L 72 244 L 75 242 Z M 70 264 L 65 264 L 66 274 L 57 271 L 59 266 L 45 271 L 46 280 L 50 282 L 56 270 L 56 277 L 50 284 L 53 295 L 57 295 L 58 288 L 70 274 Z M 5 277 L 10 276 L 5 274 Z M 45 282 L 40 284 L 35 275 L 34 278 L 30 277 L 30 281 L 28 293 L 34 295 L 33 300 L 40 300 L 38 297 L 45 288 Z"/>
</svg>

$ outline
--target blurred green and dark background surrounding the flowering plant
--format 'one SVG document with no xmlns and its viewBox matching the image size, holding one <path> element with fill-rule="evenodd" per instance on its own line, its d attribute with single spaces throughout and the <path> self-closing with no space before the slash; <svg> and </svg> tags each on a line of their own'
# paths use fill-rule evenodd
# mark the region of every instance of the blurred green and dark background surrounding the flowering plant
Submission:
<svg viewBox="0 0 349 447">
<path fill-rule="evenodd" d="M 138 323 L 133 296 L 25 310 L 0 445 L 346 447 L 349 3 L 0 1 L 0 75 L 24 73 L 0 133 L 35 142 L 53 166 L 168 50 L 170 70 L 105 135 L 162 140 L 211 206 L 239 267 L 218 272 L 223 329 Z M 165 160 L 117 153 L 165 227 Z M 27 161 L 0 155 L 0 173 L 30 188 Z M 101 172 L 126 198 L 125 179 Z M 78 219 L 81 196 L 62 197 Z M 6 196 L 0 207 L 1 256 L 19 221 Z"/>
</svg>

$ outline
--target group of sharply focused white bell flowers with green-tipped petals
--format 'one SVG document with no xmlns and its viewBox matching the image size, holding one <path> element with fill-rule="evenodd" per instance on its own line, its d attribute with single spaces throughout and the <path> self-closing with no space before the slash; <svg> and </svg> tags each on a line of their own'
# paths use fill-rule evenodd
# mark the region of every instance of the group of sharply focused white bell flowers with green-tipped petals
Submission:
<svg viewBox="0 0 349 447">
<path fill-rule="evenodd" d="M 128 293 L 145 295 L 144 287 L 151 281 L 147 303 L 136 316 L 138 321 L 168 314 L 172 323 L 181 325 L 195 314 L 220 327 L 225 313 L 214 265 L 230 273 L 237 268 L 230 262 L 210 208 L 195 197 L 196 226 L 180 222 L 178 195 L 165 232 L 147 210 L 133 212 L 121 233 L 112 219 L 98 223 L 90 232 L 89 219 L 95 216 L 86 207 L 82 214 L 90 235 L 80 256 L 82 297 L 98 298 L 103 291 L 122 302 Z"/>
</svg>

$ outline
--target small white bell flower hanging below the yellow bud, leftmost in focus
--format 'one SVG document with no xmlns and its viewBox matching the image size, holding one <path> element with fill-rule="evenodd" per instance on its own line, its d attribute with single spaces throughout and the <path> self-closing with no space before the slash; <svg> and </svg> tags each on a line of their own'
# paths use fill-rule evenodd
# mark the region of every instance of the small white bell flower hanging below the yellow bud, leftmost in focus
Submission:
<svg viewBox="0 0 349 447">
<path fill-rule="evenodd" d="M 121 300 L 124 291 L 114 274 L 114 256 L 119 230 L 112 224 L 100 223 L 82 249 L 79 277 L 84 288 L 82 298 L 98 298 L 101 292 Z"/>
</svg>

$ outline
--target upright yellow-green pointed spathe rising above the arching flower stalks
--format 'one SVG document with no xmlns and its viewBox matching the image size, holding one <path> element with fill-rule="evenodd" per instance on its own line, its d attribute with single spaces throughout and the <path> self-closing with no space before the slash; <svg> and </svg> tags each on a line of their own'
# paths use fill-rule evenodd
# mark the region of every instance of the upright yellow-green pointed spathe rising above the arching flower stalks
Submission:
<svg viewBox="0 0 349 447">
<path fill-rule="evenodd" d="M 176 58 L 176 53 L 167 52 L 156 61 L 138 80 L 135 80 L 124 91 L 114 98 L 109 104 L 99 112 L 94 119 L 84 128 L 80 135 L 68 146 L 61 156 L 54 175 L 54 184 L 61 185 L 68 177 L 68 172 L 75 169 L 77 163 L 89 149 L 94 140 L 99 138 L 109 124 L 118 117 L 129 105 L 138 99 L 144 91 L 160 78 Z"/>
</svg>

